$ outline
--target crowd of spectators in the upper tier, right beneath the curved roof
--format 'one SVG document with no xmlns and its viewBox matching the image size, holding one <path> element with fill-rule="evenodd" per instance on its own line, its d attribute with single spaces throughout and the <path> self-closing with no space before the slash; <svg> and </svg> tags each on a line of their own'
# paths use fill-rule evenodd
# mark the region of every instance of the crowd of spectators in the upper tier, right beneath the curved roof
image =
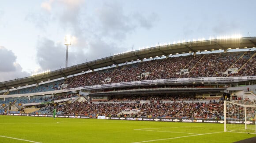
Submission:
<svg viewBox="0 0 256 143">
<path fill-rule="evenodd" d="M 143 61 L 74 76 L 68 78 L 65 83 L 68 83 L 68 88 L 74 88 L 151 79 L 234 76 L 226 73 L 229 68 L 240 70 L 235 76 L 255 76 L 255 57 L 248 61 L 254 53 L 199 54 Z M 188 69 L 189 72 L 182 73 L 181 69 Z"/>
</svg>

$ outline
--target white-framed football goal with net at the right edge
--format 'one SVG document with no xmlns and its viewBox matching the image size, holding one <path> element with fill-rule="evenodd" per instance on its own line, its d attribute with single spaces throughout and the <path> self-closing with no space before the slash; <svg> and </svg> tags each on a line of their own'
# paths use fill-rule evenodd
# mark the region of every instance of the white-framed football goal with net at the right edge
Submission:
<svg viewBox="0 0 256 143">
<path fill-rule="evenodd" d="M 256 104 L 251 100 L 224 101 L 224 131 L 256 134 Z"/>
</svg>

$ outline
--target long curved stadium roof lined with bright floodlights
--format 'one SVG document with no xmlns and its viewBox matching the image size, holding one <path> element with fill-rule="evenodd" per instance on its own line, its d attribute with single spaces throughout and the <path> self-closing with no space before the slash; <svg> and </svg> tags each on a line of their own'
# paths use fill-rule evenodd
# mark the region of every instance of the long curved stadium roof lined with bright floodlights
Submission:
<svg viewBox="0 0 256 143">
<path fill-rule="evenodd" d="M 68 75 L 78 74 L 84 71 L 93 70 L 112 66 L 114 64 L 122 64 L 125 62 L 143 60 L 144 58 L 167 56 L 171 54 L 192 53 L 198 51 L 212 51 L 212 50 L 228 50 L 236 48 L 255 48 L 256 37 L 243 37 L 243 38 L 218 38 L 211 40 L 197 40 L 184 43 L 173 43 L 158 45 L 155 47 L 144 48 L 143 50 L 136 50 L 125 52 L 124 54 L 117 54 L 102 59 L 89 61 L 83 64 L 77 64 L 68 68 L 62 68 L 53 72 L 48 72 L 41 75 L 34 75 L 21 79 L 0 82 L 0 90 L 17 88 L 19 86 L 26 86 L 45 82 L 48 80 L 67 77 Z"/>
</svg>

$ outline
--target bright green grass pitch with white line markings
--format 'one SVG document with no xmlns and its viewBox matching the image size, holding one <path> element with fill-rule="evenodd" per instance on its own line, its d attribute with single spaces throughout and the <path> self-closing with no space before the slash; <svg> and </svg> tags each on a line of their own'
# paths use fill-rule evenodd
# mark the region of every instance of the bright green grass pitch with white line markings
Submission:
<svg viewBox="0 0 256 143">
<path fill-rule="evenodd" d="M 0 115 L 0 143 L 232 143 L 256 136 L 223 132 L 223 126 Z"/>
</svg>

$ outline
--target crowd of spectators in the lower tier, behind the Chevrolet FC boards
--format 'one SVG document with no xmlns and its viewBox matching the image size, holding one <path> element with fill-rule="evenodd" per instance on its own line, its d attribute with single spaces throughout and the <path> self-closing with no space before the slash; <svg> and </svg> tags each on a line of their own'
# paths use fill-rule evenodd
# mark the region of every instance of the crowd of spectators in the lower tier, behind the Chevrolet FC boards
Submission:
<svg viewBox="0 0 256 143">
<path fill-rule="evenodd" d="M 149 99 L 147 99 L 149 100 Z M 185 99 L 184 99 L 185 100 Z M 57 111 L 66 115 L 87 116 L 124 116 L 119 114 L 124 110 L 139 110 L 138 114 L 129 114 L 132 117 L 165 117 L 165 118 L 218 118 L 223 117 L 223 102 L 162 102 L 153 100 L 150 102 L 121 102 L 121 103 L 88 103 L 75 102 L 59 105 Z M 126 114 L 125 114 L 126 116 Z"/>
</svg>

